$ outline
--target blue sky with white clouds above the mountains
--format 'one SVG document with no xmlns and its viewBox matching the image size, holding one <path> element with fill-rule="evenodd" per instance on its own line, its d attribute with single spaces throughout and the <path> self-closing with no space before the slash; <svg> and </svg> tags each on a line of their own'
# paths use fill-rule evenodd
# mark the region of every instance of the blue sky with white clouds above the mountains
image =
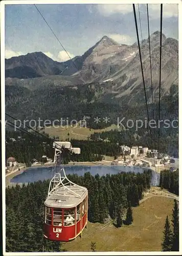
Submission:
<svg viewBox="0 0 182 256">
<path fill-rule="evenodd" d="M 120 44 L 137 41 L 132 4 L 36 4 L 70 57 L 82 55 L 107 35 Z M 43 52 L 57 61 L 69 56 L 34 5 L 5 5 L 5 57 Z M 142 38 L 148 37 L 147 9 L 140 4 Z M 139 36 L 141 30 L 137 12 Z M 150 34 L 160 31 L 160 4 L 149 4 Z M 178 39 L 178 5 L 163 4 L 163 33 Z"/>
</svg>

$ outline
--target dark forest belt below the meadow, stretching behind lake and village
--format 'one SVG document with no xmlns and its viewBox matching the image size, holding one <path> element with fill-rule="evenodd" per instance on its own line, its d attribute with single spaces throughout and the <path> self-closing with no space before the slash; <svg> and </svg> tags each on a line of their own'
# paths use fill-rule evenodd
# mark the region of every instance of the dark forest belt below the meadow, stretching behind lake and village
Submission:
<svg viewBox="0 0 182 256">
<path fill-rule="evenodd" d="M 34 136 L 33 136 L 34 135 Z M 33 135 L 21 132 L 6 132 L 6 159 L 8 157 L 15 157 L 20 163 L 27 165 L 31 164 L 32 159 L 41 161 L 43 155 L 49 158 L 54 158 L 54 148 L 52 147 L 54 138 L 44 134 L 42 136 L 33 133 Z M 80 155 L 67 153 L 64 156 L 64 164 L 70 161 L 86 162 L 86 161 L 100 161 L 103 156 L 118 157 L 121 155 L 120 145 L 126 144 L 128 146 L 143 145 L 150 147 L 150 137 L 148 136 L 134 136 L 130 131 L 111 131 L 102 134 L 94 134 L 91 140 L 72 140 L 69 141 L 74 147 L 81 148 Z M 98 139 L 107 138 L 109 142 Z M 19 137 L 19 138 L 18 138 Z M 20 138 L 21 137 L 21 138 Z M 46 138 L 47 137 L 47 138 Z M 14 138 L 16 141 L 12 141 Z M 38 139 L 39 138 L 39 139 Z M 169 153 L 178 157 L 178 138 L 168 137 L 168 139 L 161 138 L 161 151 Z M 61 140 L 61 138 L 60 138 Z M 118 143 L 118 144 L 117 144 Z"/>
</svg>

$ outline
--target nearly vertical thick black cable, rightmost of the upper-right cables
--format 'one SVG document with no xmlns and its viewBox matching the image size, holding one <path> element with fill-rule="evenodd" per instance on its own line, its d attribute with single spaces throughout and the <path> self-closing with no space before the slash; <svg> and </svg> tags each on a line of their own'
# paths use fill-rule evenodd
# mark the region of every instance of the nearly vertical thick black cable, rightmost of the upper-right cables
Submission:
<svg viewBox="0 0 182 256">
<path fill-rule="evenodd" d="M 160 35 L 160 84 L 158 101 L 158 122 L 161 118 L 161 63 L 162 63 L 162 32 L 163 32 L 163 4 L 161 4 L 161 35 Z M 158 125 L 158 152 L 160 151 L 160 127 Z"/>
</svg>

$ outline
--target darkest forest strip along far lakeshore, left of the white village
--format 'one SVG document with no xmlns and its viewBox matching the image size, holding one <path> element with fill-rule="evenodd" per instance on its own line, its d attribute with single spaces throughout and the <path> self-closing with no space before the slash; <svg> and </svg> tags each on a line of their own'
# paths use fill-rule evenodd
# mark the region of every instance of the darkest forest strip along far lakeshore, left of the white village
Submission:
<svg viewBox="0 0 182 256">
<path fill-rule="evenodd" d="M 18 136 L 19 135 L 19 136 Z M 44 135 L 45 136 L 45 135 Z M 43 155 L 49 158 L 54 158 L 55 148 L 53 148 L 53 141 L 55 138 L 34 136 L 30 134 L 21 134 L 16 132 L 7 132 L 6 138 L 6 159 L 8 157 L 15 157 L 17 162 L 31 164 L 32 159 L 37 159 L 41 161 Z M 18 138 L 21 137 L 21 138 Z M 15 141 L 12 141 L 14 138 Z M 41 138 L 41 139 L 38 139 Z M 64 155 L 64 163 L 69 161 L 101 161 L 103 155 L 106 156 L 119 156 L 121 153 L 121 148 L 116 143 L 109 143 L 104 141 L 94 142 L 92 140 L 70 140 L 74 147 L 81 148 L 81 154 L 75 155 L 66 152 Z"/>
</svg>

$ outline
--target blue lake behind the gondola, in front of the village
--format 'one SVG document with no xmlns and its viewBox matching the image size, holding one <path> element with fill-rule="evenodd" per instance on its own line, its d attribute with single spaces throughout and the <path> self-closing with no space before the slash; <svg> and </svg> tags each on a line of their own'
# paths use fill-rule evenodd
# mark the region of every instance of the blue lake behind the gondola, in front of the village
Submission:
<svg viewBox="0 0 182 256">
<path fill-rule="evenodd" d="M 89 172 L 92 176 L 99 174 L 104 176 L 106 174 L 117 174 L 120 172 L 134 172 L 134 173 L 143 173 L 144 169 L 141 167 L 134 166 L 85 166 L 85 165 L 73 165 L 73 166 L 64 166 L 66 175 L 68 174 L 77 174 L 78 176 L 83 176 L 85 173 Z M 11 182 L 13 183 L 28 183 L 43 181 L 51 179 L 52 167 L 30 167 L 29 169 L 23 171 L 21 174 L 13 177 Z M 157 186 L 160 182 L 160 174 L 152 170 L 152 180 L 151 185 Z"/>
</svg>

